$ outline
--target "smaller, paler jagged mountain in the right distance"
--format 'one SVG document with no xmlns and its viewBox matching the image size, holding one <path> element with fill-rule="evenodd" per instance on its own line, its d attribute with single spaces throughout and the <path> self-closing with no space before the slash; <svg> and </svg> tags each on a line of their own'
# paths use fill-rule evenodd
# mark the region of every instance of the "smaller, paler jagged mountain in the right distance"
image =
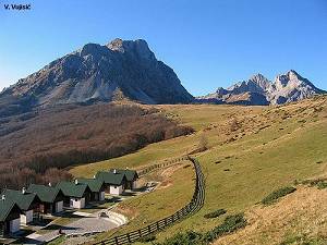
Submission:
<svg viewBox="0 0 327 245">
<path fill-rule="evenodd" d="M 242 81 L 225 89 L 197 98 L 201 102 L 240 103 L 240 105 L 280 105 L 305 99 L 325 91 L 315 87 L 308 79 L 291 70 L 278 75 L 274 82 L 262 74 Z"/>
</svg>

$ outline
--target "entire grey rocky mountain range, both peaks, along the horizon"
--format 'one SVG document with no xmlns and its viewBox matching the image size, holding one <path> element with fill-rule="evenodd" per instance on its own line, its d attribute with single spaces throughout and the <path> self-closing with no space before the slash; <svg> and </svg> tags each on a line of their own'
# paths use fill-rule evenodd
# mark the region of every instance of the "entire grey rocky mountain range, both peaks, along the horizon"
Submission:
<svg viewBox="0 0 327 245">
<path fill-rule="evenodd" d="M 94 103 L 122 98 L 142 103 L 278 105 L 324 93 L 295 71 L 274 82 L 262 74 L 194 98 L 177 74 L 158 61 L 145 40 L 87 44 L 20 79 L 0 94 L 0 117 L 36 107 Z"/>
</svg>

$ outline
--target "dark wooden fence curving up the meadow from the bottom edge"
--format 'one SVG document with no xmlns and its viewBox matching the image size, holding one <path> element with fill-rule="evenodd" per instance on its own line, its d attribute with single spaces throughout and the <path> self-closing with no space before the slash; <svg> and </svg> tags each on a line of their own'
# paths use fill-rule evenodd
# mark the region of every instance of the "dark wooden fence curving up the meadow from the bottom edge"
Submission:
<svg viewBox="0 0 327 245">
<path fill-rule="evenodd" d="M 133 232 L 130 232 L 130 233 L 126 233 L 123 235 L 118 235 L 118 236 L 101 241 L 96 244 L 99 244 L 99 245 L 105 245 L 105 244 L 123 245 L 123 244 L 134 243 L 142 237 L 146 237 L 150 234 L 161 231 L 161 230 L 166 229 L 167 226 L 180 221 L 181 219 L 185 219 L 186 217 L 191 216 L 192 213 L 198 211 L 203 207 L 204 200 L 205 200 L 205 179 L 204 179 L 204 175 L 201 170 L 201 166 L 199 166 L 198 161 L 196 159 L 193 159 L 190 157 L 187 157 L 187 159 L 191 160 L 194 164 L 196 180 L 195 180 L 195 188 L 194 188 L 193 197 L 186 206 L 184 206 L 183 208 L 181 208 L 173 215 L 166 217 L 157 222 L 154 222 L 145 228 L 142 228 L 140 230 L 136 230 L 136 231 L 133 231 Z M 165 164 L 165 163 L 161 163 L 161 164 Z M 160 167 L 158 167 L 158 168 L 160 168 Z"/>
</svg>

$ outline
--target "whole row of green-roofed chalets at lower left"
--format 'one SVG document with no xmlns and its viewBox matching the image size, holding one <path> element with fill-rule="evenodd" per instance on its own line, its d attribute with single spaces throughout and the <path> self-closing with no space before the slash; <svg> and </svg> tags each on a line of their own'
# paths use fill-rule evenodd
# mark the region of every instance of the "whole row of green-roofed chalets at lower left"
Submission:
<svg viewBox="0 0 327 245">
<path fill-rule="evenodd" d="M 138 175 L 134 170 L 98 172 L 94 179 L 62 181 L 56 186 L 31 184 L 22 191 L 4 189 L 0 199 L 0 236 L 15 233 L 40 215 L 55 215 L 64 208 L 82 209 L 90 203 L 104 201 L 105 193 L 121 195 L 136 188 Z"/>
</svg>

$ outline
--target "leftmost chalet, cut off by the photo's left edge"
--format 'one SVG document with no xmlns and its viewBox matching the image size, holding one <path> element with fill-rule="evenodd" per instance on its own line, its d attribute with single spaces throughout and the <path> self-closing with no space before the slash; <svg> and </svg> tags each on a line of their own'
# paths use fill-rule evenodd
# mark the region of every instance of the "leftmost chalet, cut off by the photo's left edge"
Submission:
<svg viewBox="0 0 327 245">
<path fill-rule="evenodd" d="M 21 209 L 13 201 L 2 195 L 0 199 L 0 237 L 20 231 Z"/>
</svg>

